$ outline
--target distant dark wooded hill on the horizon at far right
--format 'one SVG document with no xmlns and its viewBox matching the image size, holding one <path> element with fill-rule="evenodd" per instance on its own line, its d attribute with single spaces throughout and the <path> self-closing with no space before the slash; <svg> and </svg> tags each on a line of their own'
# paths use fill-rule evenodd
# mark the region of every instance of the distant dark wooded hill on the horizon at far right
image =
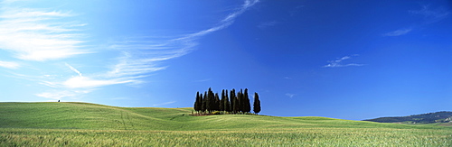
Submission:
<svg viewBox="0 0 452 147">
<path fill-rule="evenodd" d="M 452 112 L 441 111 L 422 115 L 409 115 L 400 117 L 380 117 L 364 121 L 379 123 L 405 123 L 405 124 L 434 124 L 452 123 Z"/>
</svg>

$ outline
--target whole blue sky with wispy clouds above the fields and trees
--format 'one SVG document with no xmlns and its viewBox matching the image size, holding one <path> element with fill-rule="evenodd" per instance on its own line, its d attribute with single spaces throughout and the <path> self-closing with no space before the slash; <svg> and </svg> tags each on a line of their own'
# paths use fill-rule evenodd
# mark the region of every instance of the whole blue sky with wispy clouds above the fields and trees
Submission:
<svg viewBox="0 0 452 147">
<path fill-rule="evenodd" d="M 450 1 L 0 1 L 0 101 L 191 107 L 258 92 L 262 115 L 450 111 Z M 252 101 L 252 100 L 251 100 Z"/>
</svg>

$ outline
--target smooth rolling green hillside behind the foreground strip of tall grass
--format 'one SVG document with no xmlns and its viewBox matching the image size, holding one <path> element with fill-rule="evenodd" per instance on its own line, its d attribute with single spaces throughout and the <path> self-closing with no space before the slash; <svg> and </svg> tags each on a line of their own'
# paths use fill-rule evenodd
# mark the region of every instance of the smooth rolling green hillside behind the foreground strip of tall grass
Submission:
<svg viewBox="0 0 452 147">
<path fill-rule="evenodd" d="M 97 130 L 221 130 L 281 127 L 414 127 L 325 117 L 191 116 L 192 108 L 130 108 L 89 103 L 0 103 L 1 127 Z"/>
</svg>

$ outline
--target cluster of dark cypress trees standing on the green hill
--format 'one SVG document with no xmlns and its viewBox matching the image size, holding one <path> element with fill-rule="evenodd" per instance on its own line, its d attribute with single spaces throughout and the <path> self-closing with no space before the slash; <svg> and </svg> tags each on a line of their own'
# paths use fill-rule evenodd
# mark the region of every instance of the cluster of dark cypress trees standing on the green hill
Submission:
<svg viewBox="0 0 452 147">
<path fill-rule="evenodd" d="M 228 90 L 222 89 L 221 98 L 218 93 L 213 93 L 212 88 L 209 87 L 204 94 L 200 94 L 200 92 L 196 92 L 196 100 L 194 102 L 194 111 L 198 114 L 200 113 L 208 113 L 212 114 L 216 111 L 218 112 L 227 112 L 231 114 L 245 114 L 250 113 L 250 98 L 248 96 L 248 88 L 245 88 L 243 91 L 240 89 L 236 93 L 235 89 L 229 92 Z M 253 111 L 255 114 L 259 114 L 260 112 L 260 100 L 258 93 L 254 93 L 254 105 Z M 218 114 L 214 114 L 218 115 Z"/>
</svg>

